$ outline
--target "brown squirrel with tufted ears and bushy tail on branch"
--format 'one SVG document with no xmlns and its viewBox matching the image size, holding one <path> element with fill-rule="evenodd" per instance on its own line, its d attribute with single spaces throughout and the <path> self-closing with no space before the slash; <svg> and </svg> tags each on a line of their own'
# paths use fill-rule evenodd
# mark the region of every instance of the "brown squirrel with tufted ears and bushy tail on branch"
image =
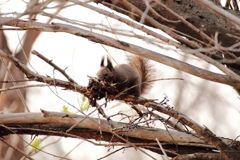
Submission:
<svg viewBox="0 0 240 160">
<path fill-rule="evenodd" d="M 104 66 L 103 57 L 97 78 L 100 81 L 114 84 L 124 95 L 139 97 L 150 90 L 153 73 L 154 70 L 149 60 L 140 56 L 130 56 L 128 64 L 118 64 L 114 67 L 108 57 L 107 65 Z"/>
</svg>

